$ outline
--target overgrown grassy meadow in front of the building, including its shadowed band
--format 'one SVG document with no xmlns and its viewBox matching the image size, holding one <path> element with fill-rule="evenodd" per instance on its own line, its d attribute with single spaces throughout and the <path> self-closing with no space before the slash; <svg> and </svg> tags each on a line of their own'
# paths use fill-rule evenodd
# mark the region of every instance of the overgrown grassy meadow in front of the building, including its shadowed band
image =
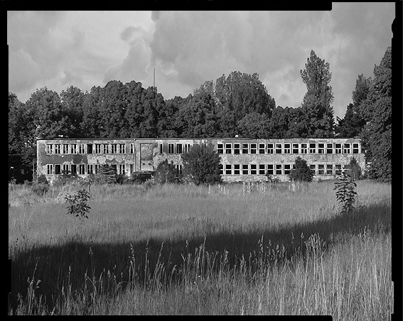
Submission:
<svg viewBox="0 0 403 321">
<path fill-rule="evenodd" d="M 9 185 L 13 315 L 332 315 L 390 320 L 391 187 L 360 180 L 92 185 L 89 219 L 63 195 Z"/>
</svg>

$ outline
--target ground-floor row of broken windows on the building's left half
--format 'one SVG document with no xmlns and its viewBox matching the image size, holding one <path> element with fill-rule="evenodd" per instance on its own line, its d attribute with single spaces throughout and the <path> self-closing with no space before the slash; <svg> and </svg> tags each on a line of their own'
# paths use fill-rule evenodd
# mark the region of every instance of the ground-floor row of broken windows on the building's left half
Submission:
<svg viewBox="0 0 403 321">
<path fill-rule="evenodd" d="M 134 164 L 111 164 L 117 174 L 126 174 L 126 167 L 130 170 L 129 175 L 134 173 Z M 126 166 L 127 165 L 127 166 Z M 176 174 L 182 175 L 183 168 L 181 164 L 176 164 Z M 72 173 L 79 175 L 97 174 L 100 164 L 46 164 L 46 173 L 48 175 L 61 175 L 63 173 Z"/>
</svg>

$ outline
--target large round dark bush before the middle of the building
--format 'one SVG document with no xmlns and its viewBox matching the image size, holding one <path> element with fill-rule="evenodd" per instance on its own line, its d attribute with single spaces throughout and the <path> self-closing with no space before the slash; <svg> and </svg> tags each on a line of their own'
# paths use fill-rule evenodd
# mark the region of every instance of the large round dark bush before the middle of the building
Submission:
<svg viewBox="0 0 403 321">
<path fill-rule="evenodd" d="M 181 157 L 186 180 L 195 185 L 214 185 L 222 182 L 220 156 L 215 152 L 213 145 L 206 143 L 194 145 Z"/>
</svg>

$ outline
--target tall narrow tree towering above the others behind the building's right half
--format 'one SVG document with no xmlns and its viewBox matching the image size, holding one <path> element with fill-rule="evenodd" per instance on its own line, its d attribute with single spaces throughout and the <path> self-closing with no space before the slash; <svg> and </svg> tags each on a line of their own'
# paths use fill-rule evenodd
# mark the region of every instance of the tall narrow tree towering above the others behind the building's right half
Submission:
<svg viewBox="0 0 403 321">
<path fill-rule="evenodd" d="M 303 83 L 307 92 L 303 97 L 302 111 L 305 118 L 305 129 L 302 136 L 326 138 L 333 136 L 333 91 L 330 65 L 318 58 L 311 50 L 305 70 L 301 70 Z"/>
</svg>

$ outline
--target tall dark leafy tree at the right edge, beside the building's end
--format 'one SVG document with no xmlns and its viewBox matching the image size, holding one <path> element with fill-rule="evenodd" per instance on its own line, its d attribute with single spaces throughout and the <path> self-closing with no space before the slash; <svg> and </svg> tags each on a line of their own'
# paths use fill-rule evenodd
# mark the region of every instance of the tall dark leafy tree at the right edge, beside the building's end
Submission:
<svg viewBox="0 0 403 321">
<path fill-rule="evenodd" d="M 361 105 L 366 121 L 362 146 L 370 162 L 370 178 L 392 181 L 392 47 L 387 48 L 380 65 L 374 67 L 374 80 Z"/>
</svg>

